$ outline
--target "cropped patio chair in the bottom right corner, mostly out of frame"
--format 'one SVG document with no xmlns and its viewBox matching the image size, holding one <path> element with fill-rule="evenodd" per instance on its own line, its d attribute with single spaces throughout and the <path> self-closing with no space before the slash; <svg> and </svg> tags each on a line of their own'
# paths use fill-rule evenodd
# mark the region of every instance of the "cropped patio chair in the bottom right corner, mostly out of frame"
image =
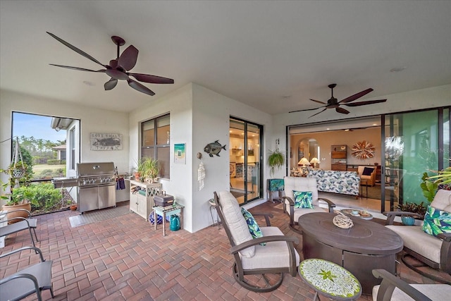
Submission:
<svg viewBox="0 0 451 301">
<path fill-rule="evenodd" d="M 373 301 L 449 300 L 451 295 L 451 285 L 408 284 L 384 269 L 374 269 L 373 275 L 382 278 L 381 284 L 373 287 Z"/>
</svg>

